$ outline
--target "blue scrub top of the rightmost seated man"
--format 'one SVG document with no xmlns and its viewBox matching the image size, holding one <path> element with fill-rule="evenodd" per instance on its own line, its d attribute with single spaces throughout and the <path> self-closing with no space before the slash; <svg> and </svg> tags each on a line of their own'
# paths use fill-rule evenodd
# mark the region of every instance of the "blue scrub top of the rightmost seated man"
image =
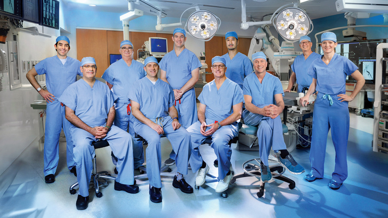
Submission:
<svg viewBox="0 0 388 218">
<path fill-rule="evenodd" d="M 268 72 L 265 73 L 261 83 L 255 73 L 244 79 L 243 94 L 251 96 L 252 104 L 256 107 L 263 108 L 270 104 L 276 105 L 275 94 L 280 93 L 284 96 L 280 79 Z"/>
</svg>

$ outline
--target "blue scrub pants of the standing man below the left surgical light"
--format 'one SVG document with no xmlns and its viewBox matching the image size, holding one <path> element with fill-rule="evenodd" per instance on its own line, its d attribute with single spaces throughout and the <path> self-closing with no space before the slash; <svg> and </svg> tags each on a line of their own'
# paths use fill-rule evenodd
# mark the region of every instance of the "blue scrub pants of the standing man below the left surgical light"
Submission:
<svg viewBox="0 0 388 218">
<path fill-rule="evenodd" d="M 179 123 L 185 129 L 198 121 L 197 103 L 195 99 L 195 91 L 193 88 L 182 95 L 180 103 L 179 100 L 175 101 L 174 105 L 178 111 Z M 174 150 L 170 153 L 170 158 L 175 160 Z"/>
</svg>

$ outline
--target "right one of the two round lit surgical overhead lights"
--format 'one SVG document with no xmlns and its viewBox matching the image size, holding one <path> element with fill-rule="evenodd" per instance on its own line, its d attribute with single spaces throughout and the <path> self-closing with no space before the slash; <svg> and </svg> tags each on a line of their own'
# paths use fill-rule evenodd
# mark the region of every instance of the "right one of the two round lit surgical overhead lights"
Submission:
<svg viewBox="0 0 388 218">
<path fill-rule="evenodd" d="M 309 33 L 312 22 L 302 9 L 289 7 L 279 12 L 274 26 L 284 39 L 294 41 Z"/>
</svg>

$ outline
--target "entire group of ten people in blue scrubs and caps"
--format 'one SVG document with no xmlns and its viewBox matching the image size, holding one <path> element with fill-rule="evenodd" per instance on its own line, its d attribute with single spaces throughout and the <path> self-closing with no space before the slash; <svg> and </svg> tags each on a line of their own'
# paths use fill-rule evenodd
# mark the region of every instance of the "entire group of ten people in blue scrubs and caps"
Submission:
<svg viewBox="0 0 388 218">
<path fill-rule="evenodd" d="M 214 80 L 203 87 L 198 96 L 197 110 L 193 87 L 201 64 L 194 53 L 184 47 L 185 34 L 183 29 L 175 29 L 172 37 L 174 50 L 164 56 L 160 66 L 154 57 L 146 58 L 144 65 L 133 61 L 132 43 L 122 41 L 122 59 L 104 72 L 107 85 L 95 78 L 97 65 L 94 58 L 86 57 L 79 62 L 67 57 L 70 40 L 65 36 L 56 39 L 56 56 L 39 62 L 27 73 L 32 86 L 48 103 L 45 181 L 55 181 L 59 133 L 63 128 L 67 140 L 67 166 L 77 176 L 80 186 L 77 209 L 88 206 L 95 156 L 91 143 L 97 140 L 107 140 L 117 158 L 118 175 L 114 189 L 128 193 L 139 191 L 133 171 L 144 163 L 143 146 L 137 140 L 134 142 L 134 138 L 141 136 L 147 141 L 151 202 L 162 202 L 160 139 L 163 135 L 170 140 L 177 163 L 173 187 L 184 193 L 193 193 L 193 188 L 183 178 L 188 173 L 188 163 L 193 172 L 198 171 L 195 185 L 205 183 L 209 166 L 203 160 L 199 146 L 211 138 L 211 147 L 218 159 L 219 182 L 215 191 L 224 192 L 233 178 L 232 150 L 228 142 L 238 135 L 240 118 L 247 125 L 258 126 L 262 182 L 272 180 L 268 164 L 271 149 L 280 152 L 280 164 L 291 173 L 304 172 L 284 143 L 279 117 L 284 109 L 284 92 L 280 80 L 266 72 L 265 54 L 257 52 L 252 55 L 252 68 L 252 62 L 237 51 L 237 33 L 227 32 L 228 53 L 211 60 Z M 353 62 L 335 53 L 337 38 L 334 33 L 323 33 L 321 41 L 323 56 L 311 51 L 308 36 L 300 39 L 304 53 L 292 65 L 293 80 L 290 79 L 290 83 L 292 85 L 296 78 L 298 91 L 301 91 L 310 81 L 308 77 L 312 78 L 306 96 L 300 99 L 302 105 L 308 104 L 309 95 L 318 92 L 313 115 L 311 172 L 305 179 L 312 182 L 323 178 L 327 133 L 331 128 L 336 166 L 329 187 L 338 189 L 347 178 L 348 102 L 359 93 L 365 80 Z M 161 79 L 157 75 L 159 67 Z M 38 74 L 46 74 L 47 90 L 42 89 L 34 78 Z M 76 82 L 77 74 L 82 78 Z M 345 94 L 346 76 L 357 81 L 350 96 Z M 243 103 L 245 109 L 242 111 Z"/>
</svg>

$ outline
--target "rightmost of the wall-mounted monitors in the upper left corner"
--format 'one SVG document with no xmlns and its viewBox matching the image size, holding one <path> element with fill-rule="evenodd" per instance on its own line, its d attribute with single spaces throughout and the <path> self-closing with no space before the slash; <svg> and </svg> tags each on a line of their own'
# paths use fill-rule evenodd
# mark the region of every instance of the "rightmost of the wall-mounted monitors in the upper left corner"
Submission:
<svg viewBox="0 0 388 218">
<path fill-rule="evenodd" d="M 41 17 L 40 25 L 59 30 L 59 1 L 40 0 Z"/>
</svg>

